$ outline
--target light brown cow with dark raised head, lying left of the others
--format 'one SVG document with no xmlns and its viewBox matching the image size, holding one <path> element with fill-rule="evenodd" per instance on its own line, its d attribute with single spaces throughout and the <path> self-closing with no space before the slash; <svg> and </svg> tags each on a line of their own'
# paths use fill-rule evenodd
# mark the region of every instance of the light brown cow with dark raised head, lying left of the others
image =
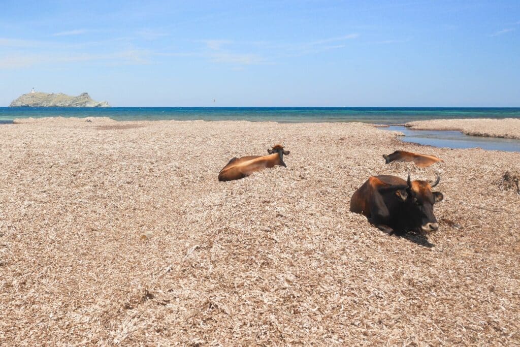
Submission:
<svg viewBox="0 0 520 347">
<path fill-rule="evenodd" d="M 272 168 L 281 165 L 287 168 L 283 162 L 283 155 L 288 156 L 290 151 L 284 150 L 283 146 L 275 145 L 268 149 L 268 156 L 250 156 L 231 159 L 224 169 L 218 174 L 218 181 L 232 181 L 251 175 L 255 171 Z"/>
</svg>

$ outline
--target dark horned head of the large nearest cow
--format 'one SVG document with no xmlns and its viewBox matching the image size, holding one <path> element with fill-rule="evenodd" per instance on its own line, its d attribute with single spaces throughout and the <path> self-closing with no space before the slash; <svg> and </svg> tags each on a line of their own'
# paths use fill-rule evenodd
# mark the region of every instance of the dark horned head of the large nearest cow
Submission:
<svg viewBox="0 0 520 347">
<path fill-rule="evenodd" d="M 419 226 L 422 234 L 435 232 L 439 228 L 437 219 L 433 214 L 433 205 L 442 201 L 444 196 L 441 192 L 432 191 L 439 184 L 440 177 L 434 183 L 427 181 L 410 181 L 408 175 L 408 197 L 406 203 L 408 205 L 410 216 L 414 220 L 414 224 Z"/>
</svg>

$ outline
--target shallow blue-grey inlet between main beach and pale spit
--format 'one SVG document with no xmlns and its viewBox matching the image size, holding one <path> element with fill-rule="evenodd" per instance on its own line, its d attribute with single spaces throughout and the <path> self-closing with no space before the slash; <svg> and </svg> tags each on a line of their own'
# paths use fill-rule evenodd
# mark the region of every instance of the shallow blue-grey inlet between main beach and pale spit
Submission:
<svg viewBox="0 0 520 347">
<path fill-rule="evenodd" d="M 404 142 L 448 148 L 482 148 L 486 150 L 520 151 L 520 140 L 497 137 L 469 136 L 454 130 L 410 130 L 406 126 L 381 128 L 400 131 Z"/>
</svg>

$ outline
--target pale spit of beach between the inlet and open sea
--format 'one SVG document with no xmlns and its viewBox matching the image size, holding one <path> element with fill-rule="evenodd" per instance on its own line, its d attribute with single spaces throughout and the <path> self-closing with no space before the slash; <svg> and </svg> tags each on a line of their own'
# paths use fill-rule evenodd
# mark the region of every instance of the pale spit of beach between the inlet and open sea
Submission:
<svg viewBox="0 0 520 347">
<path fill-rule="evenodd" d="M 412 130 L 458 130 L 466 135 L 520 139 L 520 119 L 435 119 L 405 124 Z"/>
</svg>

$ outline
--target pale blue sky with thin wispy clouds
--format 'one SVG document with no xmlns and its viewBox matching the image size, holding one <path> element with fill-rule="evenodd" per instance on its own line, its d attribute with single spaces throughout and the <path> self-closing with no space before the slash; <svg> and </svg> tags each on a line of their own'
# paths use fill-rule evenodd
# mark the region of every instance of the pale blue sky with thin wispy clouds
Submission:
<svg viewBox="0 0 520 347">
<path fill-rule="evenodd" d="M 0 81 L 0 106 L 518 107 L 520 1 L 1 0 Z"/>
</svg>

